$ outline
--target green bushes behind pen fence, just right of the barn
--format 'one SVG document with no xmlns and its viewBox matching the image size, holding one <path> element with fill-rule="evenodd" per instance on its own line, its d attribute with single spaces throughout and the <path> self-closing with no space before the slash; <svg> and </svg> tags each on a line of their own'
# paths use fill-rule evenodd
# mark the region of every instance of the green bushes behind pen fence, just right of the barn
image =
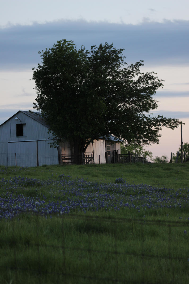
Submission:
<svg viewBox="0 0 189 284">
<path fill-rule="evenodd" d="M 121 154 L 128 154 L 128 152 L 130 153 L 134 153 L 134 154 L 138 154 L 138 155 L 143 155 L 144 157 L 148 158 L 148 159 L 152 159 L 152 152 L 150 151 L 146 151 L 142 145 L 123 145 L 121 144 Z"/>
</svg>

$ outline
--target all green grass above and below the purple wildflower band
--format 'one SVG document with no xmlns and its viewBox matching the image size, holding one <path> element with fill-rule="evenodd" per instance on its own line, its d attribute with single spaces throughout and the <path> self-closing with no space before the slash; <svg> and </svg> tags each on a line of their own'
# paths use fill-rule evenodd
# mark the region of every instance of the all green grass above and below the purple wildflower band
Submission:
<svg viewBox="0 0 189 284">
<path fill-rule="evenodd" d="M 178 191 L 189 185 L 188 170 L 188 164 L 1 167 L 0 179 L 58 180 L 63 174 L 66 179 L 110 183 L 123 178 L 131 184 Z M 56 190 L 47 193 L 51 187 L 19 187 L 14 194 L 63 198 Z M 0 188 L 0 196 L 4 193 Z M 128 190 L 127 194 L 133 193 Z M 32 213 L 1 219 L 0 283 L 188 283 L 187 210 L 121 208 L 52 219 Z"/>
</svg>

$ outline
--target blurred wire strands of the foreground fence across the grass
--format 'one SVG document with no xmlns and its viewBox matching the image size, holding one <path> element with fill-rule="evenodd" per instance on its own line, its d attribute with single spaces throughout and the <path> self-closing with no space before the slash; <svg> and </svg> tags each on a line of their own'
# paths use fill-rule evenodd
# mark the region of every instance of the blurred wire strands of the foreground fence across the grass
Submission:
<svg viewBox="0 0 189 284">
<path fill-rule="evenodd" d="M 26 213 L 26 214 L 30 214 L 30 213 Z M 36 226 L 37 226 L 37 232 L 36 232 L 36 235 L 37 235 L 37 238 L 39 237 L 39 218 L 43 218 L 41 217 L 39 214 L 35 214 L 38 218 L 36 218 Z M 77 273 L 76 274 L 72 274 L 72 273 L 66 273 L 66 272 L 60 272 L 60 273 L 57 273 L 57 272 L 50 272 L 51 274 L 54 273 L 54 275 L 62 275 L 66 278 L 72 278 L 72 277 L 75 277 L 77 279 L 77 282 L 78 283 L 81 283 L 80 279 L 88 279 L 89 281 L 92 281 L 90 283 L 93 283 L 93 281 L 108 281 L 109 283 L 138 283 L 137 281 L 129 281 L 127 279 L 125 279 L 124 281 L 122 281 L 121 279 L 119 279 L 119 272 L 117 270 L 116 272 L 116 277 L 115 279 L 114 278 L 109 278 L 109 277 L 97 277 L 95 276 L 95 273 L 94 273 L 94 269 L 92 267 L 92 257 L 94 255 L 94 253 L 97 253 L 99 254 L 99 256 L 103 253 L 107 253 L 108 255 L 112 255 L 112 257 L 116 258 L 116 266 L 118 266 L 118 257 L 120 255 L 125 255 L 125 256 L 133 256 L 133 257 L 136 257 L 136 258 L 141 258 L 141 260 L 144 260 L 146 258 L 154 258 L 154 259 L 159 259 L 159 260 L 170 260 L 171 262 L 173 260 L 179 260 L 179 261 L 187 261 L 186 258 L 183 258 L 182 256 L 178 256 L 178 257 L 174 257 L 174 256 L 171 256 L 171 229 L 173 227 L 183 227 L 183 225 L 185 226 L 188 226 L 189 225 L 189 222 L 184 222 L 184 221 L 160 221 L 160 220 L 145 220 L 145 221 L 141 221 L 139 219 L 131 219 L 131 218 L 106 218 L 106 217 L 97 217 L 97 216 L 82 216 L 82 215 L 76 215 L 76 214 L 65 214 L 62 215 L 62 216 L 59 216 L 58 218 L 61 218 L 61 231 L 62 231 L 62 245 L 48 245 L 48 244 L 40 244 L 40 243 L 34 243 L 34 244 L 28 244 L 28 247 L 33 247 L 33 249 L 37 248 L 37 251 L 38 251 L 38 254 L 40 254 L 40 247 L 45 247 L 45 248 L 51 248 L 52 250 L 54 249 L 61 249 L 62 253 L 63 253 L 63 263 L 62 263 L 62 266 L 65 267 L 66 266 L 66 263 L 65 263 L 65 258 L 66 258 L 66 252 L 67 251 L 81 251 L 83 252 L 83 254 L 86 254 L 88 253 L 89 254 L 89 258 L 88 258 L 88 261 L 89 261 L 89 264 L 90 264 L 90 269 L 89 269 L 89 272 L 88 272 L 88 275 L 78 275 Z M 90 221 L 90 222 L 97 222 L 99 221 L 100 223 L 102 222 L 111 222 L 112 224 L 112 227 L 114 228 L 113 230 L 113 234 L 114 234 L 114 244 L 113 244 L 113 247 L 114 247 L 114 250 L 96 250 L 96 249 L 92 249 L 92 244 L 91 244 L 91 237 L 90 235 L 88 235 L 88 243 L 85 245 L 84 248 L 81 248 L 81 247 L 68 247 L 66 244 L 65 244 L 65 227 L 64 227 L 64 220 L 66 219 L 74 219 L 74 220 L 86 220 L 86 221 Z M 143 253 L 133 253 L 133 252 L 128 252 L 128 251 L 122 251 L 122 252 L 119 252 L 118 251 L 118 236 L 117 236 L 117 232 L 118 232 L 118 224 L 137 224 L 137 225 L 141 225 L 141 250 Z M 168 229 L 168 233 L 167 233 L 167 239 L 168 239 L 168 244 L 167 244 L 167 255 L 155 255 L 155 254 L 148 254 L 148 253 L 145 253 L 144 252 L 144 245 L 143 245 L 143 241 L 144 241 L 144 226 L 153 226 L 153 225 L 157 225 L 157 226 L 163 226 L 163 227 L 167 227 Z M 18 244 L 18 243 L 17 243 Z M 9 243 L 7 242 L 7 245 L 9 245 Z M 19 243 L 19 245 L 22 247 L 22 245 L 24 246 L 23 243 Z M 2 246 L 2 244 L 1 244 Z M 19 264 L 17 264 L 17 258 L 16 258 L 16 250 L 14 251 L 14 263 L 15 265 L 14 266 L 0 266 L 0 270 L 16 270 L 16 271 L 30 271 L 31 273 L 32 272 L 35 272 L 35 273 L 39 273 L 39 274 L 48 274 L 49 272 L 48 271 L 40 271 L 40 270 L 33 270 L 32 268 L 29 269 L 29 268 L 24 268 L 24 267 L 19 267 Z M 144 269 L 144 268 L 143 268 Z M 143 279 L 144 280 L 144 279 Z M 147 284 L 147 283 L 153 283 L 153 284 L 156 284 L 156 282 L 145 282 L 143 281 L 142 282 L 140 281 L 140 283 L 143 283 L 143 284 Z M 174 280 L 174 272 L 173 272 L 173 279 Z M 69 282 L 71 283 L 71 282 Z M 172 282 L 174 283 L 174 281 Z"/>
</svg>

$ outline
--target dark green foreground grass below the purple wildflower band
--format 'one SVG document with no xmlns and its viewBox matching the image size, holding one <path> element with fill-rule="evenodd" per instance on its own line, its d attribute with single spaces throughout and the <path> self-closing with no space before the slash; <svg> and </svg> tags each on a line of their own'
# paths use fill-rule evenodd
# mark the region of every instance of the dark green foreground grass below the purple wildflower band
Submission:
<svg viewBox="0 0 189 284">
<path fill-rule="evenodd" d="M 93 217 L 0 222 L 0 283 L 188 283 L 186 223 Z"/>
</svg>

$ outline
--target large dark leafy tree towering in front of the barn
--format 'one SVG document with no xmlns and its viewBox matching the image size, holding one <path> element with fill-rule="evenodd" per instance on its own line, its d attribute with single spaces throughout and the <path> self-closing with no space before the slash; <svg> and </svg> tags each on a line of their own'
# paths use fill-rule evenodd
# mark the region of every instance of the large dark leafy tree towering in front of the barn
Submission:
<svg viewBox="0 0 189 284">
<path fill-rule="evenodd" d="M 158 107 L 153 95 L 163 81 L 154 72 L 142 73 L 142 60 L 127 66 L 122 51 L 108 43 L 77 49 L 64 39 L 39 52 L 33 108 L 41 111 L 55 141 L 73 142 L 74 154 L 110 134 L 129 144 L 158 143 L 162 126 L 180 124 L 149 114 Z"/>
</svg>

